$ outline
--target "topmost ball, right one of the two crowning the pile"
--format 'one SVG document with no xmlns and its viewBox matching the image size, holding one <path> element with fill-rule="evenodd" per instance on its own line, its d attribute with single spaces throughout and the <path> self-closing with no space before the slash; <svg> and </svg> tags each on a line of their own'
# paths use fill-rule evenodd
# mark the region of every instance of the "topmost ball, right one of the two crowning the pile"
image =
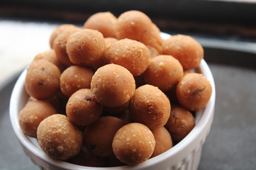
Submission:
<svg viewBox="0 0 256 170">
<path fill-rule="evenodd" d="M 116 36 L 117 39 L 133 39 L 161 51 L 159 29 L 146 14 L 140 11 L 126 11 L 117 18 Z"/>
</svg>

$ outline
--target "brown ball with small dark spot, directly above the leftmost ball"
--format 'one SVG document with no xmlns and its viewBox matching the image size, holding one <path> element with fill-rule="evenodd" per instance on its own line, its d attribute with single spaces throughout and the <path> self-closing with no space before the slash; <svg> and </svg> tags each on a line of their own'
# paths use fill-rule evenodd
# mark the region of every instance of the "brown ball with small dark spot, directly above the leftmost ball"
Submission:
<svg viewBox="0 0 256 170">
<path fill-rule="evenodd" d="M 26 91 L 35 99 L 50 99 L 59 90 L 59 78 L 56 65 L 44 59 L 34 60 L 27 68 Z"/>
</svg>

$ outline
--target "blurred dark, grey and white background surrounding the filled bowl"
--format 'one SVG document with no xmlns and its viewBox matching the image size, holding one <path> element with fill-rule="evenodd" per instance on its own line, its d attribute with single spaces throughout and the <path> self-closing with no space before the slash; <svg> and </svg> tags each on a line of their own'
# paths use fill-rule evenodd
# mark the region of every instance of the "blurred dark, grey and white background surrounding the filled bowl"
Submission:
<svg viewBox="0 0 256 170">
<path fill-rule="evenodd" d="M 216 112 L 199 169 L 256 167 L 256 1 L 1 0 L 0 169 L 36 169 L 12 131 L 9 98 L 17 76 L 62 23 L 129 10 L 148 15 L 162 32 L 186 34 L 204 47 L 217 89 Z"/>
</svg>

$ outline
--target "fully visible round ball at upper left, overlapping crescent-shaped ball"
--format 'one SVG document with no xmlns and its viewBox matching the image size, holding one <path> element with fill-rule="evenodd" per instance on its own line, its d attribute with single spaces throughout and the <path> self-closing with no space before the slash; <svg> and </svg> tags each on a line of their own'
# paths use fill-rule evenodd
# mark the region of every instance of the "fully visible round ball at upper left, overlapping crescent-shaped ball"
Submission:
<svg viewBox="0 0 256 170">
<path fill-rule="evenodd" d="M 82 29 L 72 34 L 67 41 L 67 53 L 72 63 L 91 66 L 105 54 L 106 43 L 97 30 Z"/>
</svg>

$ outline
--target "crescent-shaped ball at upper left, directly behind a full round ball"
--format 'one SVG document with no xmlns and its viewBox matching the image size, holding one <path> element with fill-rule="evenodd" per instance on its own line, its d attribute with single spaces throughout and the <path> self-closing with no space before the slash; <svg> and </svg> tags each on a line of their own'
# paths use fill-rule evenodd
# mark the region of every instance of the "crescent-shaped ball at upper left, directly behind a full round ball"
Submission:
<svg viewBox="0 0 256 170">
<path fill-rule="evenodd" d="M 80 30 L 81 28 L 79 27 L 65 29 L 61 31 L 53 41 L 53 49 L 56 53 L 56 57 L 65 65 L 74 65 L 67 54 L 67 41 L 70 35 Z"/>
</svg>

